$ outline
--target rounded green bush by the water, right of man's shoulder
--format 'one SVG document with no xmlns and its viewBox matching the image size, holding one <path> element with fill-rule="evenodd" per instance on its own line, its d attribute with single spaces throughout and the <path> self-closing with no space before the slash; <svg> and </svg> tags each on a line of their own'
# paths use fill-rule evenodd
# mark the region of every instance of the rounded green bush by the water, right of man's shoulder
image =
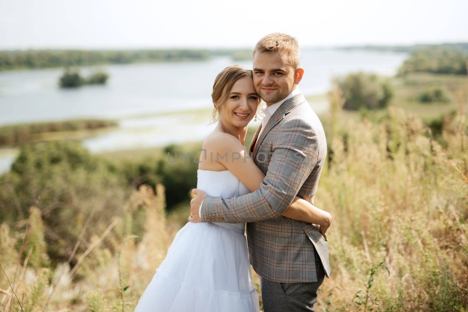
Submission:
<svg viewBox="0 0 468 312">
<path fill-rule="evenodd" d="M 389 79 L 364 72 L 351 73 L 337 79 L 345 99 L 344 109 L 377 109 L 388 106 L 393 96 Z"/>
</svg>

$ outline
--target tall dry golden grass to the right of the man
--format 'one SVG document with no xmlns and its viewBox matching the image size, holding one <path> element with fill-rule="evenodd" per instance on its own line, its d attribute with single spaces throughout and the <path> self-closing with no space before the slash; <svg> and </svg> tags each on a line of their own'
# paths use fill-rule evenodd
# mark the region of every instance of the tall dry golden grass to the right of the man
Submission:
<svg viewBox="0 0 468 312">
<path fill-rule="evenodd" d="M 316 203 L 329 210 L 332 276 L 323 309 L 365 311 L 356 294 L 378 270 L 370 296 L 382 311 L 468 307 L 468 120 L 447 119 L 445 148 L 400 108 L 380 124 L 349 121 L 331 142 Z M 341 132 L 340 132 L 341 131 Z M 327 296 L 328 294 L 330 294 Z M 369 304 L 369 303 L 368 303 Z"/>
</svg>

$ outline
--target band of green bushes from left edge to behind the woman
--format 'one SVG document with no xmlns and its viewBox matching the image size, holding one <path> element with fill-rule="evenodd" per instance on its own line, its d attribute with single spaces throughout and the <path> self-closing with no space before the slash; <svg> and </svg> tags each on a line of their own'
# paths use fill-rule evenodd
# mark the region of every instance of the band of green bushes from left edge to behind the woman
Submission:
<svg viewBox="0 0 468 312">
<path fill-rule="evenodd" d="M 125 201 L 139 185 L 149 184 L 154 189 L 161 182 L 166 184 L 168 209 L 190 199 L 190 190 L 197 187 L 198 163 L 193 162 L 192 151 L 190 162 L 180 161 L 180 154 L 187 155 L 188 149 L 170 145 L 162 155 L 114 164 L 91 155 L 80 142 L 27 143 L 21 147 L 11 170 L 0 175 L 0 224 L 11 225 L 30 218 L 31 211 L 35 211 L 30 207 L 37 207 L 46 235 L 44 243 L 37 236 L 28 244 L 47 245 L 52 265 L 70 257 L 87 223 L 83 241 L 90 241 L 95 233 L 103 233 L 115 216 L 125 218 L 113 230 L 114 238 L 110 241 L 128 234 L 139 235 L 144 230 L 145 216 L 139 209 L 130 211 Z M 168 152 L 171 160 L 177 152 L 176 162 L 168 161 Z M 81 244 L 76 255 L 84 252 L 86 246 Z"/>
</svg>

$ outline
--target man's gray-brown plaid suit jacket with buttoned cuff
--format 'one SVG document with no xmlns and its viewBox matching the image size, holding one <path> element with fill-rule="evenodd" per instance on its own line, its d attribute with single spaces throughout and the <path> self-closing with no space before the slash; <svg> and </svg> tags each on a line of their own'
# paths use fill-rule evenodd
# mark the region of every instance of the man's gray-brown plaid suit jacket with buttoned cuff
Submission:
<svg viewBox="0 0 468 312">
<path fill-rule="evenodd" d="M 248 222 L 250 262 L 261 277 L 282 283 L 316 282 L 315 262 L 322 262 L 329 277 L 328 246 L 319 227 L 281 216 L 296 195 L 314 204 L 327 154 L 322 123 L 304 96 L 296 94 L 278 107 L 260 137 L 259 132 L 260 127 L 249 156 L 266 175 L 260 188 L 232 199 L 206 197 L 201 220 Z M 315 259 L 314 247 L 320 259 Z"/>
</svg>

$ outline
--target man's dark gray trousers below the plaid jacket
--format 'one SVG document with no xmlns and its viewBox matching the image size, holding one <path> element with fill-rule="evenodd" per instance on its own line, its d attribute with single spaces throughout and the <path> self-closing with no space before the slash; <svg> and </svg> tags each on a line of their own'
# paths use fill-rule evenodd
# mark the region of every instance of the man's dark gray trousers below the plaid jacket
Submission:
<svg viewBox="0 0 468 312">
<path fill-rule="evenodd" d="M 315 252 L 317 282 L 278 283 L 260 277 L 264 312 L 315 311 L 317 290 L 322 285 L 325 270 Z"/>
</svg>

